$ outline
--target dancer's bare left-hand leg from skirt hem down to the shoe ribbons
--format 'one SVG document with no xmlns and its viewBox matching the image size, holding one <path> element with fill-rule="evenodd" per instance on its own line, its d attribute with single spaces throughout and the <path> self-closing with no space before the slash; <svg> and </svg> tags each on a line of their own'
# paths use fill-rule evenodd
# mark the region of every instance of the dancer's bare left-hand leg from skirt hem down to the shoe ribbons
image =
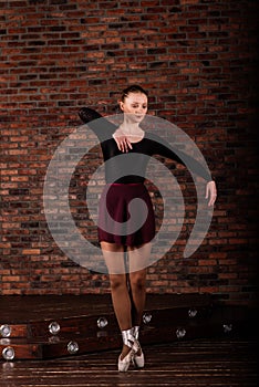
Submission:
<svg viewBox="0 0 259 387">
<path fill-rule="evenodd" d="M 132 327 L 132 302 L 124 268 L 124 247 L 107 242 L 101 242 L 101 247 L 110 273 L 113 308 L 120 330 L 130 330 Z M 131 348 L 124 344 L 121 358 L 123 359 L 130 351 Z"/>
</svg>

